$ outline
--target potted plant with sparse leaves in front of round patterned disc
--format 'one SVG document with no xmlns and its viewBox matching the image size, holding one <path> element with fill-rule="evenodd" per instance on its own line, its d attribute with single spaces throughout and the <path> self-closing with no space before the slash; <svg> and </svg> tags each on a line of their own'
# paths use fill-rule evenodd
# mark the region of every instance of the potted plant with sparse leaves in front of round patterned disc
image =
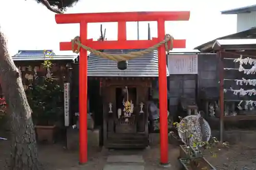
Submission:
<svg viewBox="0 0 256 170">
<path fill-rule="evenodd" d="M 174 123 L 175 128 L 179 133 L 185 136 L 185 142 L 180 145 L 180 158 L 179 161 L 182 169 L 185 170 L 216 170 L 202 155 L 201 149 L 207 149 L 216 157 L 216 153 L 212 150 L 219 145 L 219 141 L 212 137 L 209 142 L 202 141 L 195 130 L 196 126 L 200 126 L 195 120 L 188 120 L 185 123 Z M 181 127 L 182 126 L 182 127 Z M 170 132 L 174 133 L 174 132 Z M 222 143 L 226 146 L 227 143 Z"/>
</svg>

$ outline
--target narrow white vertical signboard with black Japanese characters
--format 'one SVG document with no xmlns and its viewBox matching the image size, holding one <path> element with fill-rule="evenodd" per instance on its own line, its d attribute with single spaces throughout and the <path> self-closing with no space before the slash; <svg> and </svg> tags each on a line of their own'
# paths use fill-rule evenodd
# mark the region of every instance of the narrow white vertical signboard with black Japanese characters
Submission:
<svg viewBox="0 0 256 170">
<path fill-rule="evenodd" d="M 64 83 L 64 119 L 65 126 L 69 126 L 69 109 L 70 109 L 70 83 Z"/>
</svg>

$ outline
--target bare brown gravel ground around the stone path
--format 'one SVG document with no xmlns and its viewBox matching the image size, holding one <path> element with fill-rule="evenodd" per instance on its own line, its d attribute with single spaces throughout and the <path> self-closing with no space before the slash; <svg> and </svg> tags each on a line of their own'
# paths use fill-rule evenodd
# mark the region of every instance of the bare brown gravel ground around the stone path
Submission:
<svg viewBox="0 0 256 170">
<path fill-rule="evenodd" d="M 1 136 L 1 135 L 0 135 Z M 3 137 L 3 136 L 1 136 Z M 212 158 L 210 154 L 205 154 L 205 158 L 218 170 L 256 170 L 256 146 L 250 143 L 239 143 L 231 145 L 229 148 L 217 151 L 217 158 Z M 106 149 L 91 148 L 88 153 L 89 161 L 86 165 L 78 165 L 78 152 L 67 151 L 61 144 L 40 145 L 38 148 L 39 159 L 46 167 L 46 170 L 80 170 L 93 169 L 101 170 L 106 163 L 108 154 L 125 154 L 134 151 L 108 151 Z M 160 170 L 159 167 L 159 147 L 151 147 L 144 151 L 136 151 L 142 154 L 145 161 L 146 170 Z M 4 169 L 5 159 L 9 156 L 8 141 L 0 141 L 0 169 Z M 172 170 L 179 169 L 177 158 L 179 148 L 169 145 L 169 161 Z M 165 168 L 166 169 L 166 168 Z M 168 168 L 167 168 L 168 169 Z"/>
</svg>

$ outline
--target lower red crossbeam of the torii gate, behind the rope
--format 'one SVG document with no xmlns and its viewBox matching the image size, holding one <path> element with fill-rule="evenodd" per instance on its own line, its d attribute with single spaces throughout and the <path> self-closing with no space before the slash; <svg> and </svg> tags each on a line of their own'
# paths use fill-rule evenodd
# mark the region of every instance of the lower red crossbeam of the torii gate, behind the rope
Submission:
<svg viewBox="0 0 256 170">
<path fill-rule="evenodd" d="M 160 42 L 158 39 L 153 40 L 125 40 L 125 41 L 86 41 L 84 45 L 90 46 L 95 50 L 101 49 L 142 49 L 148 48 Z M 71 42 L 60 42 L 60 51 L 72 50 Z M 77 45 L 75 45 L 77 47 Z M 174 48 L 185 48 L 186 40 L 174 40 Z"/>
</svg>

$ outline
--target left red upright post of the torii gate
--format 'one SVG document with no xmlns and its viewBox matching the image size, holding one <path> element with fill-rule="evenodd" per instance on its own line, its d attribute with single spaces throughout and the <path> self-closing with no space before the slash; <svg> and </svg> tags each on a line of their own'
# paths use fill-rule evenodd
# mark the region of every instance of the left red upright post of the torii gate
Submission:
<svg viewBox="0 0 256 170">
<path fill-rule="evenodd" d="M 80 41 L 87 41 L 87 22 L 80 23 Z M 87 156 L 87 50 L 79 53 L 79 162 L 86 163 Z"/>
</svg>

